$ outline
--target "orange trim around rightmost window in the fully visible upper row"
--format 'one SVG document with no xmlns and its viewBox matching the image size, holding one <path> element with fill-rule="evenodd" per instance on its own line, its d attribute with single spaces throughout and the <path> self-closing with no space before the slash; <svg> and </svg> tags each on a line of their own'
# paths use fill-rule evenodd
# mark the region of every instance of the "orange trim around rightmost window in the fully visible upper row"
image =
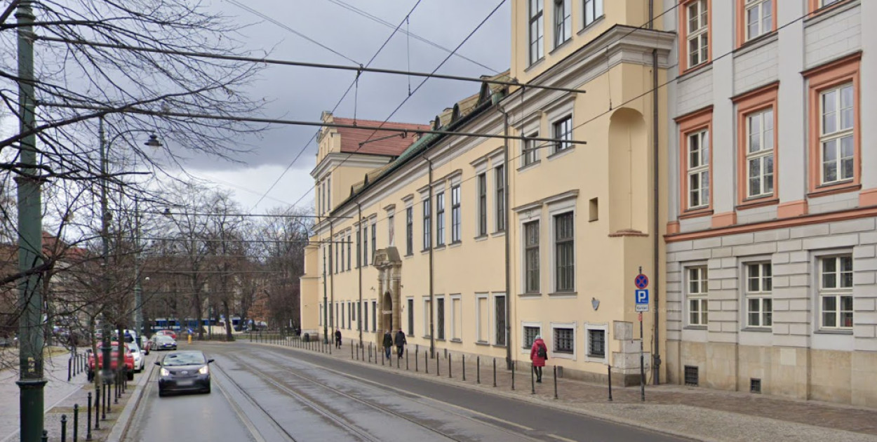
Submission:
<svg viewBox="0 0 877 442">
<path fill-rule="evenodd" d="M 860 189 L 861 180 L 861 112 L 859 107 L 859 65 L 862 53 L 854 53 L 837 61 L 831 61 L 822 66 L 809 69 L 802 73 L 808 82 L 808 122 L 809 122 L 809 193 L 825 195 L 842 191 L 854 191 Z M 819 134 L 821 128 L 821 106 L 819 96 L 826 90 L 845 83 L 852 82 L 852 181 L 838 182 L 837 184 L 822 185 L 820 168 L 822 168 L 822 155 L 820 155 Z M 839 167 L 839 165 L 838 165 Z"/>
</svg>

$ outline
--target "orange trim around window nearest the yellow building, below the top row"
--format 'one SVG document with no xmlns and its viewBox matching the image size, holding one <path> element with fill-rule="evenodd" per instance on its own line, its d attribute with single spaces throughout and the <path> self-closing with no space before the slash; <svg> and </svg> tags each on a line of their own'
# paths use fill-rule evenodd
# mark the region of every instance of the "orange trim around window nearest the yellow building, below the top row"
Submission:
<svg viewBox="0 0 877 442">
<path fill-rule="evenodd" d="M 679 153 L 680 153 L 680 170 L 679 170 L 679 182 L 680 182 L 680 207 L 682 208 L 682 213 L 680 217 L 695 217 L 695 216 L 707 216 L 712 215 L 712 202 L 713 202 L 713 173 L 712 173 L 712 159 L 713 159 L 713 142 L 712 142 L 712 106 L 708 106 L 699 111 L 694 111 L 678 117 L 675 119 L 676 124 L 679 125 Z M 703 129 L 707 130 L 707 139 L 709 142 L 709 164 L 707 165 L 707 170 L 709 170 L 709 203 L 706 207 L 698 207 L 694 210 L 688 209 L 688 134 L 692 132 L 701 131 Z"/>
</svg>

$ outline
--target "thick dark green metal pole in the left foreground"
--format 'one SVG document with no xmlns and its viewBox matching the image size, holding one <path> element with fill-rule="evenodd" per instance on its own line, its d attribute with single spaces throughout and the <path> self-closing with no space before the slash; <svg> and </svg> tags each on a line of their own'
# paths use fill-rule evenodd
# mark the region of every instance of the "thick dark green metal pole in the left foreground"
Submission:
<svg viewBox="0 0 877 442">
<path fill-rule="evenodd" d="M 33 10 L 30 0 L 22 0 L 15 13 L 18 19 L 18 131 L 29 132 L 36 123 L 33 96 Z M 18 183 L 18 268 L 31 272 L 43 264 L 43 218 L 40 182 L 37 174 L 37 137 L 25 135 L 19 142 L 22 174 Z M 18 390 L 19 428 L 22 442 L 39 442 L 43 432 L 43 305 L 40 274 L 18 280 Z"/>
</svg>

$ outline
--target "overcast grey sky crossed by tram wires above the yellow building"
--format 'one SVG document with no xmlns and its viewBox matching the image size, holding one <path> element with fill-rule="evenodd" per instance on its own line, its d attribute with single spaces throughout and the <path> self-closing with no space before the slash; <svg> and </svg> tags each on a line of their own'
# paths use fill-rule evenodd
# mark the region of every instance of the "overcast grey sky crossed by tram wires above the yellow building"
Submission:
<svg viewBox="0 0 877 442">
<path fill-rule="evenodd" d="M 509 67 L 510 1 L 506 0 L 459 51 L 489 69 L 452 57 L 439 73 L 492 75 Z M 249 25 L 241 38 L 253 55 L 268 52 L 274 59 L 365 65 L 393 28 L 346 6 L 395 27 L 416 3 L 417 0 L 210 0 L 208 7 L 239 24 Z M 500 0 L 422 0 L 411 14 L 410 24 L 403 25 L 402 30 L 410 29 L 419 37 L 453 50 L 499 3 Z M 259 17 L 241 5 L 277 23 Z M 356 63 L 286 28 L 315 39 Z M 396 32 L 371 66 L 407 70 L 410 63 L 412 71 L 431 72 L 447 55 L 439 48 Z M 267 100 L 264 114 L 269 118 L 318 121 L 322 111 L 331 111 L 339 103 L 354 77 L 355 73 L 346 71 L 272 66 L 263 71 L 258 82 L 253 83 L 250 93 Z M 411 89 L 421 81 L 422 78 L 411 77 Z M 446 107 L 464 96 L 477 93 L 478 89 L 477 83 L 431 79 L 391 120 L 426 124 Z M 408 90 L 407 76 L 363 74 L 359 82 L 356 116 L 382 121 L 403 102 Z M 352 90 L 335 115 L 353 117 L 353 98 Z M 315 132 L 313 127 L 276 126 L 259 139 L 240 140 L 254 148 L 253 153 L 239 158 L 244 161 L 243 165 L 196 158 L 189 161 L 187 168 L 193 175 L 231 189 L 245 210 L 264 212 L 270 207 L 296 203 L 300 198 L 299 205 L 308 205 L 313 201 L 310 170 L 315 166 L 317 146 L 310 139 Z M 303 149 L 303 154 L 293 163 L 296 154 Z M 275 189 L 254 207 L 290 164 L 292 166 Z"/>
</svg>

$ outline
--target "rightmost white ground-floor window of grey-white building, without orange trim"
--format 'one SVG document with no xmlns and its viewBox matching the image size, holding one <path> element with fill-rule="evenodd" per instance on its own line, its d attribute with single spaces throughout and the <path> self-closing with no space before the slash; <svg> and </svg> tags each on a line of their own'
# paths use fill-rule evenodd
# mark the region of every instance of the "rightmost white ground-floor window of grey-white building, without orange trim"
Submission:
<svg viewBox="0 0 877 442">
<path fill-rule="evenodd" d="M 852 256 L 820 259 L 820 328 L 852 330 Z"/>
</svg>

